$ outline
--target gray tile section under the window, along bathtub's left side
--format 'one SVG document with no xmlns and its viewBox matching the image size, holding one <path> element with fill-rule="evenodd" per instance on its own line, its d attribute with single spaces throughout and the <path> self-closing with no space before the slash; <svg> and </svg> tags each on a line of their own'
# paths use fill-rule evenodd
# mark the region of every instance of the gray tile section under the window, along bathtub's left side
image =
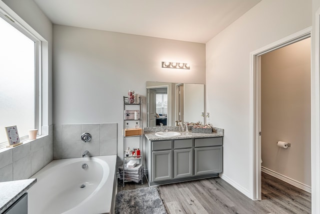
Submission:
<svg viewBox="0 0 320 214">
<path fill-rule="evenodd" d="M 53 126 L 42 130 L 48 135 L 0 152 L 0 182 L 27 179 L 52 161 Z"/>
</svg>

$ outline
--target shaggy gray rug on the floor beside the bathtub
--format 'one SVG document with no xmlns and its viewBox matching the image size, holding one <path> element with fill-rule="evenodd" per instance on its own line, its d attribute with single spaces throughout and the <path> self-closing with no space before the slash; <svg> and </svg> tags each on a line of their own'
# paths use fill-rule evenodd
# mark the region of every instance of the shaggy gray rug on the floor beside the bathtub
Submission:
<svg viewBox="0 0 320 214">
<path fill-rule="evenodd" d="M 115 214 L 166 214 L 156 188 L 144 187 L 119 191 L 115 196 Z"/>
</svg>

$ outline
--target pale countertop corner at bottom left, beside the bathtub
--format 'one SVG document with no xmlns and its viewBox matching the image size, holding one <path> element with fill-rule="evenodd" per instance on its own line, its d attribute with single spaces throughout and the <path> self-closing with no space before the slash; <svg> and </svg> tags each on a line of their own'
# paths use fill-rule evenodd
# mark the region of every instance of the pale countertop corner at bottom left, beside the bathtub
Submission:
<svg viewBox="0 0 320 214">
<path fill-rule="evenodd" d="M 0 182 L 0 213 L 36 182 L 36 178 Z"/>
</svg>

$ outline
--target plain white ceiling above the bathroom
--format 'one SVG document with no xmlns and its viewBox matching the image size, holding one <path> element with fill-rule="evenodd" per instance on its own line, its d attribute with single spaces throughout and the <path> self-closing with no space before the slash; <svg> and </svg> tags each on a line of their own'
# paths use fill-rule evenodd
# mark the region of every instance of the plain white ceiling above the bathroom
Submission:
<svg viewBox="0 0 320 214">
<path fill-rule="evenodd" d="M 261 0 L 33 0 L 53 24 L 206 43 Z"/>
</svg>

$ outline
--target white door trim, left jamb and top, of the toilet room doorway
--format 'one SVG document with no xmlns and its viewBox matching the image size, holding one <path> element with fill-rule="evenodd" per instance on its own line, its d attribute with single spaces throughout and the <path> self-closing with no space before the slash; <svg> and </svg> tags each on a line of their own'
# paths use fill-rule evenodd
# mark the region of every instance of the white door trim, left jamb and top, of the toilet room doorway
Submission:
<svg viewBox="0 0 320 214">
<path fill-rule="evenodd" d="M 289 44 L 311 36 L 311 27 L 271 43 L 250 53 L 250 197 L 252 200 L 261 199 L 261 98 L 260 98 L 260 56 Z M 314 97 L 313 97 L 314 100 Z M 312 98 L 311 98 L 312 102 Z M 312 118 L 311 113 L 311 118 Z M 311 131 L 312 133 L 312 131 Z M 262 133 L 263 134 L 263 133 Z M 311 134 L 312 135 L 312 134 Z"/>
</svg>

